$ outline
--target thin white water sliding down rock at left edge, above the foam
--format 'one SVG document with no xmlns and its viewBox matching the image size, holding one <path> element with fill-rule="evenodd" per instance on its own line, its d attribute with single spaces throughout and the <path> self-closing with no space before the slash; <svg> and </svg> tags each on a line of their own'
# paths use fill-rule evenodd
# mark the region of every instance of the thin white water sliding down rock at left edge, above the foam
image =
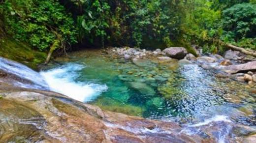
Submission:
<svg viewBox="0 0 256 143">
<path fill-rule="evenodd" d="M 13 82 L 14 86 L 42 90 L 49 89 L 44 78 L 38 72 L 21 63 L 0 57 L 0 70 L 29 81 L 29 83 L 15 81 Z"/>
</svg>

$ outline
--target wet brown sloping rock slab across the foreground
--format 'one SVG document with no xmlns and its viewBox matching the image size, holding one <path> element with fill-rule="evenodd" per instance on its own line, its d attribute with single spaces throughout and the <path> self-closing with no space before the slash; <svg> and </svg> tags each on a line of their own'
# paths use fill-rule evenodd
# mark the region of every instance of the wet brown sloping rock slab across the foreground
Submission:
<svg viewBox="0 0 256 143">
<path fill-rule="evenodd" d="M 254 129 L 228 120 L 182 127 L 173 122 L 102 111 L 50 91 L 0 86 L 0 94 L 2 143 L 214 143 L 223 139 L 253 143 L 255 138 L 241 136 L 245 130 L 250 134 Z M 211 122 L 214 128 L 209 126 Z M 220 131 L 221 126 L 227 126 L 228 131 Z M 243 130 L 232 132 L 238 127 Z"/>
</svg>

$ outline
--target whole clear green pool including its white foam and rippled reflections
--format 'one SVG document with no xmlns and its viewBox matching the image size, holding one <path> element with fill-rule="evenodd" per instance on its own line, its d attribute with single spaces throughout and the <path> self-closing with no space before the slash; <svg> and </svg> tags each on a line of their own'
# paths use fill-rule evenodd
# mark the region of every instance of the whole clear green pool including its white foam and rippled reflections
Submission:
<svg viewBox="0 0 256 143">
<path fill-rule="evenodd" d="M 61 64 L 41 72 L 50 87 L 105 110 L 180 122 L 223 115 L 256 125 L 252 89 L 219 79 L 196 64 L 156 59 L 133 63 L 99 51 L 73 53 Z"/>
</svg>

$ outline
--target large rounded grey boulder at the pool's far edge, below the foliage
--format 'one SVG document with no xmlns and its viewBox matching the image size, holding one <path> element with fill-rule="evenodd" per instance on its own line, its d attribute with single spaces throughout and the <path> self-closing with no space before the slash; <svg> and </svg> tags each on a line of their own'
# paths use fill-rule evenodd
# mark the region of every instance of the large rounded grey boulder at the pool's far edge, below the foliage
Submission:
<svg viewBox="0 0 256 143">
<path fill-rule="evenodd" d="M 172 58 L 182 59 L 184 58 L 188 52 L 183 47 L 170 47 L 163 50 L 163 52 Z"/>
</svg>

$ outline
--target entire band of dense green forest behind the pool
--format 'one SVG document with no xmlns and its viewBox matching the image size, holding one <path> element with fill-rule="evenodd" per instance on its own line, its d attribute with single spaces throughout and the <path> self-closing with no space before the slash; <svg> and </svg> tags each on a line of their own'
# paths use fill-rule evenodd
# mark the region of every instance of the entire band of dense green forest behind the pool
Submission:
<svg viewBox="0 0 256 143">
<path fill-rule="evenodd" d="M 60 53 L 191 45 L 217 53 L 222 43 L 256 50 L 256 0 L 0 0 L 0 37 Z"/>
</svg>

